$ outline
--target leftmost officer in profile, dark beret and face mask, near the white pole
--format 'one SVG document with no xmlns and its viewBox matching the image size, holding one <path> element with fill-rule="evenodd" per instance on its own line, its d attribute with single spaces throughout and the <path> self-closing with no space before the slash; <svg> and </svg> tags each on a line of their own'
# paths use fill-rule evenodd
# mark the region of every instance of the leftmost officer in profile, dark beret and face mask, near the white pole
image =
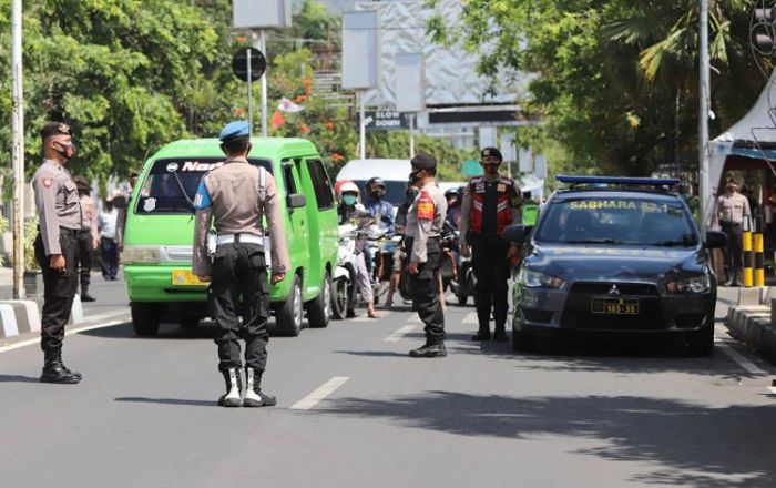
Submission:
<svg viewBox="0 0 776 488">
<path fill-rule="evenodd" d="M 41 130 L 43 164 L 32 177 L 40 228 L 35 258 L 43 273 L 41 348 L 44 364 L 42 383 L 76 384 L 81 374 L 62 363 L 64 325 L 70 318 L 78 288 L 78 233 L 81 204 L 73 176 L 64 165 L 75 155 L 70 126 L 49 122 Z"/>
</svg>

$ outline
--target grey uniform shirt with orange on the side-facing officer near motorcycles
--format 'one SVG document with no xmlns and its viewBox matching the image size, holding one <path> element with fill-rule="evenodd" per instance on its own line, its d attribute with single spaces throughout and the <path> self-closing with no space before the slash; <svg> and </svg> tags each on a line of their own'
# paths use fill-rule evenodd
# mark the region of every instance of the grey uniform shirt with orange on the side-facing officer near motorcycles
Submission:
<svg viewBox="0 0 776 488">
<path fill-rule="evenodd" d="M 426 243 L 429 237 L 439 237 L 447 217 L 447 199 L 437 183 L 428 183 L 407 212 L 407 236 L 412 237 L 410 261 L 426 263 Z"/>
</svg>

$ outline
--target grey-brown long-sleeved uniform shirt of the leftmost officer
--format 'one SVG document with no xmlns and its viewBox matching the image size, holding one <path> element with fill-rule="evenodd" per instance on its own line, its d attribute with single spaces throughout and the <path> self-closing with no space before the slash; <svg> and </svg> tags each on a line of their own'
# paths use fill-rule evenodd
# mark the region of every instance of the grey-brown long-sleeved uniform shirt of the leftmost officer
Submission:
<svg viewBox="0 0 776 488">
<path fill-rule="evenodd" d="M 60 227 L 81 228 L 81 199 L 68 170 L 53 160 L 44 160 L 32 177 L 40 234 L 45 255 L 62 254 Z"/>
</svg>

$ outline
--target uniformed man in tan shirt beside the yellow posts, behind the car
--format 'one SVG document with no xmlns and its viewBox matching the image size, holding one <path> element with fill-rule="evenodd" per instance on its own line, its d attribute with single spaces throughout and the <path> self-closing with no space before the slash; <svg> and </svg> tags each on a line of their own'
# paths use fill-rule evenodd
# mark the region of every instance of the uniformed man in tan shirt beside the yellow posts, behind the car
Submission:
<svg viewBox="0 0 776 488">
<path fill-rule="evenodd" d="M 725 194 L 717 197 L 712 215 L 712 227 L 721 228 L 727 235 L 727 246 L 723 247 L 725 260 L 724 286 L 743 286 L 739 274 L 744 258 L 744 220 L 748 221 L 752 212 L 746 196 L 738 193 L 738 184 L 732 177 L 725 182 Z"/>
</svg>

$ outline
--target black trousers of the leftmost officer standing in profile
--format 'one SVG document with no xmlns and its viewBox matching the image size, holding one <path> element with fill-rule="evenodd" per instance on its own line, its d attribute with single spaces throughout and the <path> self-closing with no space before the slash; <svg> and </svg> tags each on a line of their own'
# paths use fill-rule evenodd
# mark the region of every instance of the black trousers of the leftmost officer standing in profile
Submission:
<svg viewBox="0 0 776 488">
<path fill-rule="evenodd" d="M 70 318 L 73 298 L 78 289 L 78 231 L 60 228 L 59 244 L 62 248 L 65 270 L 63 273 L 49 266 L 43 240 L 35 238 L 35 258 L 43 273 L 43 314 L 41 317 L 41 340 L 43 350 L 57 350 L 62 347 L 64 326 Z"/>
</svg>

